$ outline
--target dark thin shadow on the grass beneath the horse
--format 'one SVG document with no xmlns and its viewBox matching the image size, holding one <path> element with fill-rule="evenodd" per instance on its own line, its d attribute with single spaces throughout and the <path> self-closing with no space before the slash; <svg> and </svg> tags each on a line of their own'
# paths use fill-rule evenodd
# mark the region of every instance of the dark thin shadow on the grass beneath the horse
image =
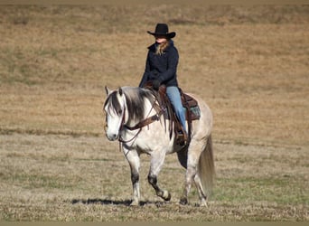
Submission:
<svg viewBox="0 0 309 226">
<path fill-rule="evenodd" d="M 72 204 L 77 204 L 77 203 L 82 203 L 85 205 L 88 204 L 102 204 L 102 205 L 125 205 L 125 206 L 129 206 L 130 203 L 132 201 L 131 200 L 110 200 L 110 199 L 73 199 L 71 201 Z M 161 206 L 164 205 L 164 203 L 166 202 L 150 202 L 150 201 L 141 201 L 139 202 L 140 206 L 144 206 L 146 204 L 155 204 L 156 206 Z"/>
</svg>

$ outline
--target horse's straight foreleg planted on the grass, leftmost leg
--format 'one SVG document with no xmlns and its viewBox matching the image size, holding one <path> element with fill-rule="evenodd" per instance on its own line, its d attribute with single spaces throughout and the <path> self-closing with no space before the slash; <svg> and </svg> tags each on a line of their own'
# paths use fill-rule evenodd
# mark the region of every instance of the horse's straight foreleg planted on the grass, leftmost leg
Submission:
<svg viewBox="0 0 309 226">
<path fill-rule="evenodd" d="M 139 166 L 140 166 L 140 159 L 139 155 L 134 150 L 124 150 L 126 155 L 126 160 L 130 165 L 131 168 L 131 181 L 133 186 L 133 197 L 131 205 L 138 205 L 140 199 L 140 192 L 139 192 Z"/>
</svg>

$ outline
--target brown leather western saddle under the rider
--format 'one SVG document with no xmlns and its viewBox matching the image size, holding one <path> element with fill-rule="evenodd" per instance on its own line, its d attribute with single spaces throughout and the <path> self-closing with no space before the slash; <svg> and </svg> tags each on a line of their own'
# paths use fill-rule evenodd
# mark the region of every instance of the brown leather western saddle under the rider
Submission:
<svg viewBox="0 0 309 226">
<path fill-rule="evenodd" d="M 151 89 L 154 92 L 156 99 L 158 99 L 160 108 L 166 109 L 164 111 L 164 118 L 170 119 L 170 125 L 169 125 L 170 138 L 172 138 L 173 133 L 175 134 L 176 137 L 179 137 L 178 136 L 179 131 L 183 131 L 183 127 L 181 125 L 179 118 L 177 118 L 175 114 L 175 111 L 173 109 L 173 105 L 170 99 L 168 99 L 167 97 L 166 87 L 164 85 L 161 85 L 158 91 L 155 91 L 155 89 L 153 89 L 152 87 L 152 84 L 147 83 L 145 86 L 145 89 Z M 196 99 L 193 99 L 190 95 L 184 93 L 182 89 L 179 89 L 179 90 L 181 93 L 183 108 L 186 109 L 185 117 L 188 123 L 188 137 L 186 140 L 181 140 L 183 138 L 181 138 L 180 140 L 177 139 L 176 142 L 178 144 L 186 143 L 186 145 L 188 146 L 191 141 L 192 121 L 199 120 L 201 118 L 201 110 L 200 110 L 198 101 Z M 174 123 L 174 129 L 172 129 L 173 123 Z M 184 134 L 184 131 L 183 131 L 183 134 Z"/>
</svg>

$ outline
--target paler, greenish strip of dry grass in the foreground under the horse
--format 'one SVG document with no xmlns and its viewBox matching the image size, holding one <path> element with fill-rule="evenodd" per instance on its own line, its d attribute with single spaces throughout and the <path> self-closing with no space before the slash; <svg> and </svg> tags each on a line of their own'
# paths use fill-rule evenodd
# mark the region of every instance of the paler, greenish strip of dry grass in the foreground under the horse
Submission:
<svg viewBox="0 0 309 226">
<path fill-rule="evenodd" d="M 128 207 L 129 167 L 117 144 L 101 137 L 1 136 L 0 218 L 19 221 L 308 221 L 307 151 L 216 144 L 218 181 L 209 208 L 178 201 L 183 169 L 169 155 L 162 202 L 146 182 L 142 206 Z M 280 161 L 278 161 L 280 159 Z"/>
</svg>

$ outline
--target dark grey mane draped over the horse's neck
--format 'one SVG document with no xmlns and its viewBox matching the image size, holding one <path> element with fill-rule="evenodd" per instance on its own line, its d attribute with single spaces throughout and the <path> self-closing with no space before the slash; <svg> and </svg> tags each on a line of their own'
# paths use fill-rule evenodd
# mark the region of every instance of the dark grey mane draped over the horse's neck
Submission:
<svg viewBox="0 0 309 226">
<path fill-rule="evenodd" d="M 122 88 L 126 95 L 127 111 L 131 119 L 140 121 L 145 118 L 145 100 L 151 103 L 155 102 L 155 96 L 149 89 L 140 89 L 137 87 Z"/>
</svg>

